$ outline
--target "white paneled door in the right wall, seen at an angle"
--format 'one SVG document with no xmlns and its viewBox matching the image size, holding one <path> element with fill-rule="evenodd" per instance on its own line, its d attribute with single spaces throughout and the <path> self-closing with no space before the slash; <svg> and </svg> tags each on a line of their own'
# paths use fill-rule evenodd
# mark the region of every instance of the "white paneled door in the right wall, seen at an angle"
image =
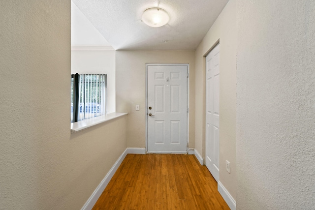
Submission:
<svg viewBox="0 0 315 210">
<path fill-rule="evenodd" d="M 206 57 L 206 166 L 219 181 L 219 44 Z"/>
</svg>

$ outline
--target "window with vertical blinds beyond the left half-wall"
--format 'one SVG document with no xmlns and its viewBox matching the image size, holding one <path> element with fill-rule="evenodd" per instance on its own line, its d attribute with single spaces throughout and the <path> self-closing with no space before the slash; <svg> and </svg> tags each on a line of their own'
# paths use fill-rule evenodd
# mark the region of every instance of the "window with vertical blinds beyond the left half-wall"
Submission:
<svg viewBox="0 0 315 210">
<path fill-rule="evenodd" d="M 106 74 L 71 75 L 71 122 L 106 114 Z"/>
</svg>

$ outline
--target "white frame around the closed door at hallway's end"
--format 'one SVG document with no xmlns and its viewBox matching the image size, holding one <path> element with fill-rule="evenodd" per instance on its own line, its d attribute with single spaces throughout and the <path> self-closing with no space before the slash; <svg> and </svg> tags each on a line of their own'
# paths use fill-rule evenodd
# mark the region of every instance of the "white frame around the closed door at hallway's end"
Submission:
<svg viewBox="0 0 315 210">
<path fill-rule="evenodd" d="M 189 63 L 146 63 L 146 106 L 145 106 L 145 115 L 146 115 L 146 153 L 148 153 L 148 66 L 152 65 L 170 65 L 170 66 L 187 66 L 187 154 L 189 146 Z"/>
</svg>

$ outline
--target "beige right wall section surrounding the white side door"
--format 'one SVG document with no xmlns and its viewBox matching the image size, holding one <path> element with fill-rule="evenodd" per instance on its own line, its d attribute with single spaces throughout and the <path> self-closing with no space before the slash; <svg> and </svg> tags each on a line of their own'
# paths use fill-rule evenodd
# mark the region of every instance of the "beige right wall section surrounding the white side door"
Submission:
<svg viewBox="0 0 315 210">
<path fill-rule="evenodd" d="M 230 0 L 196 49 L 195 149 L 205 157 L 205 56 L 220 40 L 220 181 L 236 198 L 236 0 Z M 225 161 L 231 163 L 230 174 Z"/>
</svg>

